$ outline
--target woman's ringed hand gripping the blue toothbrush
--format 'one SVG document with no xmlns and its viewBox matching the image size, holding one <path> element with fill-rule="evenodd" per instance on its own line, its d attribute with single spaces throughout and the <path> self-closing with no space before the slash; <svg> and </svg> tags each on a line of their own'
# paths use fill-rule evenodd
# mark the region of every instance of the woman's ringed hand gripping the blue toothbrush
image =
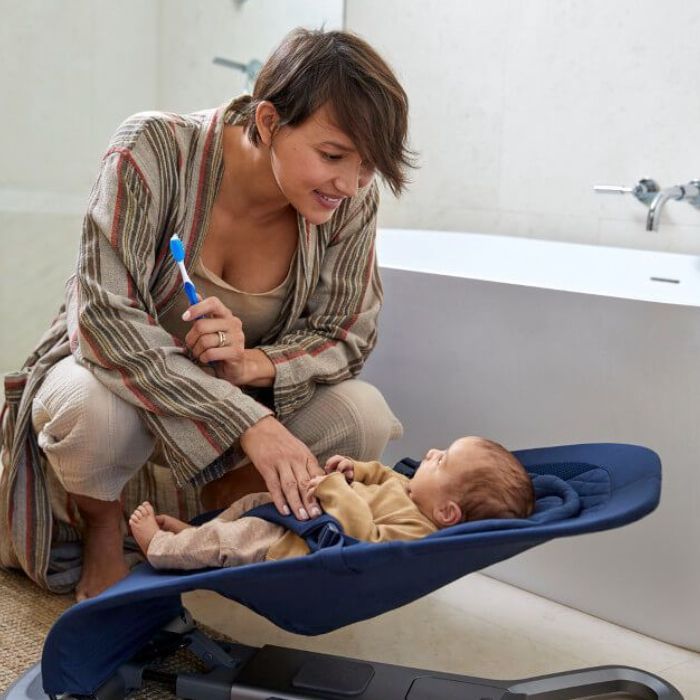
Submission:
<svg viewBox="0 0 700 700">
<path fill-rule="evenodd" d="M 242 384 L 245 336 L 241 320 L 218 297 L 207 297 L 193 304 L 182 318 L 184 321 L 197 319 L 185 336 L 185 345 L 195 359 L 203 365 L 215 362 L 218 377 L 232 384 Z"/>
</svg>

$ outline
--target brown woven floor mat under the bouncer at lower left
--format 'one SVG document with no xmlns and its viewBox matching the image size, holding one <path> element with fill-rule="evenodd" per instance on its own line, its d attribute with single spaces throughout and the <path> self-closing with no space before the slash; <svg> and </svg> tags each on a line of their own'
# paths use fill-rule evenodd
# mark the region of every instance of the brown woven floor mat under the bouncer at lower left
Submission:
<svg viewBox="0 0 700 700">
<path fill-rule="evenodd" d="M 72 595 L 47 593 L 22 574 L 0 569 L 0 693 L 6 691 L 28 668 L 41 660 L 41 649 L 51 625 L 73 604 Z M 231 642 L 218 632 L 198 625 L 206 634 Z M 204 666 L 189 651 L 181 650 L 159 667 L 162 671 L 203 671 Z M 175 698 L 154 686 L 130 699 Z"/>
</svg>

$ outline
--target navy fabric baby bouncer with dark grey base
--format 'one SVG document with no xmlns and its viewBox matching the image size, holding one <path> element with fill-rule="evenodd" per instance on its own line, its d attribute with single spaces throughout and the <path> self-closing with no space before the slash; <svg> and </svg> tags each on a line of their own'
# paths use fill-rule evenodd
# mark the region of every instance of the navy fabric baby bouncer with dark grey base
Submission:
<svg viewBox="0 0 700 700">
<path fill-rule="evenodd" d="M 289 518 L 285 524 L 309 542 L 312 553 L 306 557 L 196 572 L 156 572 L 142 564 L 102 595 L 67 610 L 47 636 L 41 664 L 6 697 L 117 700 L 156 682 L 180 698 L 206 700 L 566 700 L 610 693 L 682 700 L 663 679 L 628 667 L 489 680 L 215 642 L 197 630 L 182 606 L 183 592 L 210 589 L 283 629 L 322 634 L 556 537 L 631 523 L 658 504 L 661 466 L 646 448 L 589 444 L 515 454 L 535 487 L 536 509 L 527 520 L 463 523 L 422 540 L 370 544 L 348 538 L 328 516 L 311 523 Z M 410 477 L 417 466 L 406 459 L 395 468 Z M 334 592 L 341 587 L 346 594 L 338 605 Z M 207 670 L 163 671 L 162 660 L 183 647 Z"/>
</svg>

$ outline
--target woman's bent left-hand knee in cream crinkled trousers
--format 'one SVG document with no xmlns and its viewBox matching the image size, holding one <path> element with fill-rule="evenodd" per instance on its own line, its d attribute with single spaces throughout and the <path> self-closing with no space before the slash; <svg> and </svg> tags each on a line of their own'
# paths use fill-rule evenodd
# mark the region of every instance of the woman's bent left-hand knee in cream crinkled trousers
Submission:
<svg viewBox="0 0 700 700">
<path fill-rule="evenodd" d="M 104 470 L 133 473 L 153 451 L 138 411 L 72 357 L 48 373 L 32 404 L 32 423 L 39 446 L 71 493 L 114 496 L 118 488 L 109 480 L 104 487 L 91 482 Z"/>
</svg>

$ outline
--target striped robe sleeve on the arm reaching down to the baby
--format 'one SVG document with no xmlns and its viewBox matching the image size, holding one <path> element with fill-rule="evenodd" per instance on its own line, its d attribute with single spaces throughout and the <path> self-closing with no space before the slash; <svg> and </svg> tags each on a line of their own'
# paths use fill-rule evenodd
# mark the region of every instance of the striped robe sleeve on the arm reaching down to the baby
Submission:
<svg viewBox="0 0 700 700">
<path fill-rule="evenodd" d="M 103 160 L 83 225 L 68 327 L 76 359 L 140 410 L 183 484 L 270 411 L 203 372 L 158 325 L 149 289 L 168 245 L 170 232 L 162 229 L 169 180 L 149 141 L 153 135 L 133 148 L 113 147 Z"/>
</svg>

